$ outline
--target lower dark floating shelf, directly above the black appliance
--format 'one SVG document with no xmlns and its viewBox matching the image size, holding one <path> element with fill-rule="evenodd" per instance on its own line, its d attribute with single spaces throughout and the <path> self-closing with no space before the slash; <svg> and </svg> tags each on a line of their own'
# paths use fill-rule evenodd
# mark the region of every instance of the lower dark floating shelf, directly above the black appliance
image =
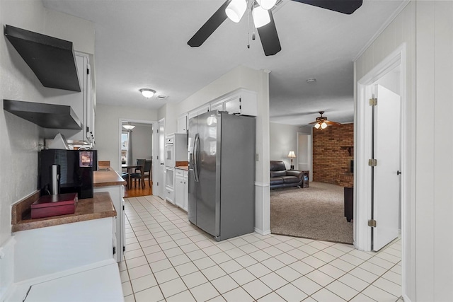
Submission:
<svg viewBox="0 0 453 302">
<path fill-rule="evenodd" d="M 82 129 L 71 106 L 3 100 L 3 109 L 43 128 Z"/>
</svg>

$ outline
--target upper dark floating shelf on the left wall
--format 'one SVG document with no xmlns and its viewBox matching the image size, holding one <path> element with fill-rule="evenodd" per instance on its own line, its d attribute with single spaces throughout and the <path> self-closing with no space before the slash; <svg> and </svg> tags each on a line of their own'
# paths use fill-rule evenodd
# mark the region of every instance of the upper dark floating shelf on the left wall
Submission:
<svg viewBox="0 0 453 302">
<path fill-rule="evenodd" d="M 80 92 L 72 42 L 5 25 L 4 34 L 42 86 Z"/>
</svg>

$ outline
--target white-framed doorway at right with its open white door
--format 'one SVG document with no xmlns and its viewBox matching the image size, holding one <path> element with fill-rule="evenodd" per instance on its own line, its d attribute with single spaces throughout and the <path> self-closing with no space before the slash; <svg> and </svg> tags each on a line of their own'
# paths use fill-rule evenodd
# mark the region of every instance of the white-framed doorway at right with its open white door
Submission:
<svg viewBox="0 0 453 302">
<path fill-rule="evenodd" d="M 357 81 L 357 98 L 355 103 L 355 180 L 354 180 L 354 216 L 357 219 L 354 220 L 354 245 L 358 250 L 379 250 L 380 248 L 386 248 L 388 246 L 387 241 L 393 240 L 395 236 L 398 236 L 398 233 L 401 234 L 401 264 L 402 269 L 402 280 L 406 279 L 405 272 L 406 269 L 406 255 L 407 253 L 407 238 L 408 238 L 408 228 L 406 228 L 406 209 L 409 206 L 408 204 L 408 194 L 410 188 L 410 175 L 405 173 L 406 161 L 403 160 L 405 155 L 408 154 L 408 139 L 409 139 L 409 129 L 407 125 L 407 112 L 408 104 L 406 101 L 406 47 L 401 45 L 393 53 L 391 53 L 386 59 L 377 66 L 369 71 L 362 79 Z M 373 158 L 373 143 L 375 143 L 374 138 L 372 137 L 372 127 L 373 123 L 370 122 L 372 117 L 373 102 L 370 102 L 370 98 L 373 97 L 373 93 L 376 93 L 377 85 L 384 88 L 384 98 L 379 100 L 379 91 L 377 92 L 377 106 L 379 103 L 382 105 L 389 105 L 387 112 L 384 112 L 384 119 L 378 121 L 380 124 L 384 124 L 384 128 L 380 128 L 377 124 L 378 131 L 382 132 L 378 135 L 391 134 L 392 132 L 398 132 L 396 135 L 392 136 L 393 139 L 397 138 L 396 141 L 392 143 L 384 143 L 387 146 L 384 146 L 381 150 L 381 154 L 376 154 L 379 158 Z M 386 94 L 389 93 L 389 94 Z M 392 100 L 393 98 L 393 100 Z M 392 100 L 392 101 L 389 101 Z M 388 103 L 385 103 L 389 101 Z M 393 106 L 392 107 L 392 102 Z M 398 104 L 399 103 L 399 104 Z M 393 127 L 392 127 L 393 126 Z M 389 146 L 391 144 L 391 146 Z M 393 212 L 396 212 L 396 215 L 388 215 L 385 213 L 382 214 L 382 219 L 377 220 L 374 216 L 374 211 L 376 211 L 376 204 L 372 204 L 373 195 L 373 173 L 372 166 L 377 164 L 379 167 L 379 161 L 381 161 L 381 167 L 386 165 L 389 162 L 388 154 L 396 153 L 395 158 L 398 163 L 394 168 L 389 169 L 391 172 L 388 173 L 388 176 L 396 178 L 396 189 L 392 189 L 392 197 L 394 205 L 396 208 Z M 374 159 L 377 162 L 374 162 Z M 373 161 L 369 161 L 373 160 Z M 383 161 L 386 161 L 384 163 Z M 399 168 L 398 168 L 399 165 Z M 382 175 L 380 175 L 382 177 Z M 384 180 L 385 181 L 385 180 Z M 385 182 L 382 182 L 385 183 Z M 379 185 L 379 184 L 378 184 Z M 377 188 L 376 188 L 377 189 Z M 387 190 L 386 187 L 379 187 L 379 190 Z M 389 198 L 389 197 L 385 197 Z M 378 197 L 379 199 L 379 197 Z M 381 198 L 382 199 L 382 198 Z M 380 200 L 374 200 L 374 203 L 380 202 Z M 396 204 L 395 204 L 396 203 Z M 378 210 L 379 211 L 379 210 Z M 387 221 L 389 219 L 389 221 Z M 393 228 L 392 236 L 386 238 L 382 242 L 377 242 L 374 240 L 373 236 L 376 234 L 377 228 Z M 396 235 L 395 235 L 396 228 Z M 391 241 L 394 242 L 394 241 Z M 405 294 L 405 284 L 402 283 L 403 295 Z"/>
</svg>

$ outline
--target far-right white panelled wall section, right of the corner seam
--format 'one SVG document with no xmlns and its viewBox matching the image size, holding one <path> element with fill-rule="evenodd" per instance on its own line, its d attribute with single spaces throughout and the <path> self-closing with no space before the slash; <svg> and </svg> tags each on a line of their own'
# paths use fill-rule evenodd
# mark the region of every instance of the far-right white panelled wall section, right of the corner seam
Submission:
<svg viewBox="0 0 453 302">
<path fill-rule="evenodd" d="M 453 1 L 416 1 L 417 301 L 453 301 Z"/>
</svg>

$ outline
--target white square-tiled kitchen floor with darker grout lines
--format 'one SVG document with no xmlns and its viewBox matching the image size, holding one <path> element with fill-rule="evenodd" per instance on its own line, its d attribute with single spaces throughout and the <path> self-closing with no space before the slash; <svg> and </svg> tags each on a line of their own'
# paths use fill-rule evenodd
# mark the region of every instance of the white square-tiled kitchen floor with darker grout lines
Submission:
<svg viewBox="0 0 453 302">
<path fill-rule="evenodd" d="M 258 233 L 217 242 L 159 197 L 125 211 L 125 301 L 403 301 L 398 239 L 377 253 Z"/>
</svg>

